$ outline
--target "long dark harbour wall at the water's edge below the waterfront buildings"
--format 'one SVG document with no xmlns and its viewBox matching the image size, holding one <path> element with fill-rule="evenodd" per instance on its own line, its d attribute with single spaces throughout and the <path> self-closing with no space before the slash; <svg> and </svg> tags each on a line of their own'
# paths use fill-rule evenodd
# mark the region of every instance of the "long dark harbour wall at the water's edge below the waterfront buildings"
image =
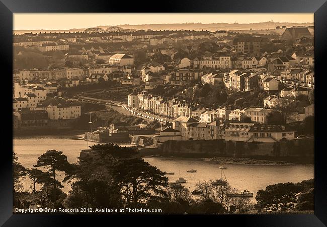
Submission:
<svg viewBox="0 0 327 227">
<path fill-rule="evenodd" d="M 161 155 L 192 157 L 265 157 L 313 163 L 314 139 L 281 140 L 280 142 L 242 142 L 219 140 L 166 141 L 157 151 Z"/>
</svg>

